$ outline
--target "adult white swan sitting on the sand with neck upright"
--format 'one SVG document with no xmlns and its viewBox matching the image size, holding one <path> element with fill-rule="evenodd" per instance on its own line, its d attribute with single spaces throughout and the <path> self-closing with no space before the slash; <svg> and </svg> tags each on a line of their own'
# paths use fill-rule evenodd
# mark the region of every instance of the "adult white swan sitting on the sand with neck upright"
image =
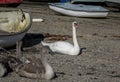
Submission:
<svg viewBox="0 0 120 82">
<path fill-rule="evenodd" d="M 41 42 L 43 46 L 48 46 L 52 52 L 57 52 L 67 55 L 78 55 L 80 53 L 80 47 L 77 41 L 76 28 L 78 24 L 76 21 L 72 23 L 73 30 L 73 45 L 65 41 L 57 41 L 54 43 Z"/>
</svg>

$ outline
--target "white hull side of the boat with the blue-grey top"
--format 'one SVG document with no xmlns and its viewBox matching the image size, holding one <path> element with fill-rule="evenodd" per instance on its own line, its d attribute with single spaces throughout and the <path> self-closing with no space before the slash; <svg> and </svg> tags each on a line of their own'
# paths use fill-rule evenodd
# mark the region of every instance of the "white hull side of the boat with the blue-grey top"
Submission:
<svg viewBox="0 0 120 82">
<path fill-rule="evenodd" d="M 61 14 L 76 16 L 76 17 L 106 17 L 108 15 L 108 12 L 74 11 L 74 10 L 68 10 L 68 9 L 64 9 L 64 8 L 60 8 L 52 5 L 49 5 L 49 8 Z"/>
</svg>

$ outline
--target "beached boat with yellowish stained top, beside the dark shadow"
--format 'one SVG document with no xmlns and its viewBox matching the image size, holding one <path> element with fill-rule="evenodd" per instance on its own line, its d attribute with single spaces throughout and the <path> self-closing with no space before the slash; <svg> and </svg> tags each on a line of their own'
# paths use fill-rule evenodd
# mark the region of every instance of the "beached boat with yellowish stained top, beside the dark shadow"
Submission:
<svg viewBox="0 0 120 82">
<path fill-rule="evenodd" d="M 0 10 L 0 47 L 15 45 L 30 27 L 29 13 L 22 10 Z"/>
</svg>

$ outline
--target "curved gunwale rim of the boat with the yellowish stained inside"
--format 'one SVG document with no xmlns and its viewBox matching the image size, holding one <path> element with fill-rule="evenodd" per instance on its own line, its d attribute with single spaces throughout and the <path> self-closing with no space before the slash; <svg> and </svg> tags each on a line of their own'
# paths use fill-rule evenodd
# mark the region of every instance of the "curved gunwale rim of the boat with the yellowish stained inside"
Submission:
<svg viewBox="0 0 120 82">
<path fill-rule="evenodd" d="M 0 10 L 1 11 L 1 10 Z M 5 10 L 6 11 L 6 10 Z M 7 10 L 7 11 L 10 11 L 10 10 Z M 28 12 L 26 12 L 26 11 L 23 11 L 24 13 L 28 13 Z M 16 36 L 16 35 L 19 35 L 19 34 L 22 34 L 22 33 L 25 33 L 25 32 L 27 32 L 30 28 L 31 28 L 31 25 L 32 25 L 32 17 L 31 17 L 31 15 L 29 14 L 29 16 L 30 16 L 30 23 L 28 24 L 28 26 L 24 29 L 24 30 L 22 30 L 22 31 L 19 31 L 19 32 L 12 32 L 12 33 L 9 33 L 8 32 L 8 34 L 3 34 L 3 35 L 0 35 L 0 37 L 7 37 L 7 36 Z"/>
</svg>

